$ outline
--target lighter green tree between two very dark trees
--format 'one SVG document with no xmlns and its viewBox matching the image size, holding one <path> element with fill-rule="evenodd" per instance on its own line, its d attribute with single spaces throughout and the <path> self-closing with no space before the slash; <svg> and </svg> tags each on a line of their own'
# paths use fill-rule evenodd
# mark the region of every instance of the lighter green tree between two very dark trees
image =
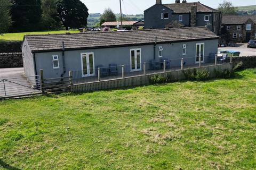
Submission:
<svg viewBox="0 0 256 170">
<path fill-rule="evenodd" d="M 43 30 L 58 30 L 61 23 L 57 17 L 57 0 L 42 0 L 42 20 L 41 28 Z"/>
</svg>

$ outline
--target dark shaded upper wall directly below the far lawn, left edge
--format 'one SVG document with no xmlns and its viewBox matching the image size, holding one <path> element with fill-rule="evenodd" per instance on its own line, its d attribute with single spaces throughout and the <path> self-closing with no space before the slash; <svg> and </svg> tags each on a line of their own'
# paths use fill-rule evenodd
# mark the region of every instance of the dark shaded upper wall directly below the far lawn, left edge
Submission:
<svg viewBox="0 0 256 170">
<path fill-rule="evenodd" d="M 0 42 L 0 53 L 21 53 L 22 41 Z"/>
</svg>

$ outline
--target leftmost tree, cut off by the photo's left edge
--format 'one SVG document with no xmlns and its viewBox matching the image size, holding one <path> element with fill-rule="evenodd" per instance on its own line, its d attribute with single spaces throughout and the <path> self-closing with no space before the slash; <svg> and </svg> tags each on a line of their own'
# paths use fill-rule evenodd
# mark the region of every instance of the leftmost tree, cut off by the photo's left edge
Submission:
<svg viewBox="0 0 256 170">
<path fill-rule="evenodd" d="M 5 33 L 11 25 L 10 7 L 9 0 L 0 0 L 0 35 Z"/>
</svg>

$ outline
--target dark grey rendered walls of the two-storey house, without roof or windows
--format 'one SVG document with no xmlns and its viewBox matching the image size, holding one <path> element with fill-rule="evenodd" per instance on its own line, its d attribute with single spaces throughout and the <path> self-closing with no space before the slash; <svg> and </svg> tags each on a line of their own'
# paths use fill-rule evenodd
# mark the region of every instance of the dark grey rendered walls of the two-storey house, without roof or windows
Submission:
<svg viewBox="0 0 256 170">
<path fill-rule="evenodd" d="M 169 19 L 161 19 L 161 13 L 169 13 Z M 146 11 L 144 11 L 145 15 L 145 29 L 159 29 L 159 28 L 165 28 L 167 24 L 169 24 L 172 21 L 179 21 L 179 15 L 183 15 L 183 21 L 182 23 L 186 27 L 190 27 L 190 13 L 173 13 L 173 11 L 170 8 L 167 8 L 161 4 L 156 4 L 154 6 L 151 6 Z M 210 15 L 209 21 L 204 21 L 204 16 Z M 214 15 L 215 19 L 214 20 Z M 218 16 L 216 16 L 218 15 Z M 214 32 L 215 27 L 215 34 L 220 35 L 221 33 L 221 13 L 201 13 L 197 12 L 197 21 L 196 26 L 205 26 L 207 23 L 210 25 L 208 28 Z"/>
</svg>

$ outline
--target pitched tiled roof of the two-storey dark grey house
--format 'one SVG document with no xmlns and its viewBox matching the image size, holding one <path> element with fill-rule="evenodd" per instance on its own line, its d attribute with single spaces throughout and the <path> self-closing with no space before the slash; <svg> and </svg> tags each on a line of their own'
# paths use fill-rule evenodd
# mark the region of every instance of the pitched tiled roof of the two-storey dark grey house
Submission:
<svg viewBox="0 0 256 170">
<path fill-rule="evenodd" d="M 163 4 L 166 7 L 169 7 L 174 13 L 190 13 L 191 6 L 197 6 L 197 12 L 220 12 L 215 10 L 209 6 L 201 4 L 199 2 L 192 2 L 192 3 L 175 3 L 175 4 Z"/>
</svg>

